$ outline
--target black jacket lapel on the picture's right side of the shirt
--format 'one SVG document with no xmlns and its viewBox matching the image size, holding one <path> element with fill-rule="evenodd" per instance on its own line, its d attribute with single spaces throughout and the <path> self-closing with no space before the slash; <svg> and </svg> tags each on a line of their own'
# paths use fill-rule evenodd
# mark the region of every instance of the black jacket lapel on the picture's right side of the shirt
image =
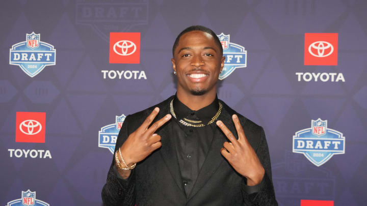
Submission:
<svg viewBox="0 0 367 206">
<path fill-rule="evenodd" d="M 223 104 L 223 102 L 221 102 Z M 223 107 L 222 113 L 219 115 L 218 120 L 221 120 L 227 128 L 235 133 L 235 128 L 233 126 L 232 117 L 227 112 L 225 107 Z M 216 123 L 213 123 L 216 124 Z M 191 199 L 212 177 L 216 172 L 220 164 L 225 160 L 225 158 L 220 153 L 221 148 L 223 148 L 223 143 L 228 141 L 227 137 L 223 134 L 222 130 L 217 126 L 214 132 L 214 137 L 209 151 L 206 155 L 205 161 L 200 169 L 199 175 L 196 179 L 195 185 L 188 195 L 188 200 Z"/>
</svg>

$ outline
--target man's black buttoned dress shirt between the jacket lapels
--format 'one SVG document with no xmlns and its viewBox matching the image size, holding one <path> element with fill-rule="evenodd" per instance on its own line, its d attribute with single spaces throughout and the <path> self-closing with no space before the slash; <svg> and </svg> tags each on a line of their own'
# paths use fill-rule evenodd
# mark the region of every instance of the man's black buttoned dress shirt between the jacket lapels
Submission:
<svg viewBox="0 0 367 206">
<path fill-rule="evenodd" d="M 185 188 L 186 195 L 190 194 L 197 176 L 199 175 L 201 166 L 203 165 L 207 152 L 211 146 L 216 123 L 207 125 L 216 115 L 219 109 L 218 98 L 211 104 L 197 111 L 191 110 L 185 104 L 179 101 L 177 96 L 173 100 L 173 110 L 177 119 L 172 117 L 172 137 L 175 139 L 178 164 L 182 176 L 182 185 Z M 201 121 L 203 127 L 186 126 L 179 122 L 184 118 L 192 121 Z"/>
</svg>

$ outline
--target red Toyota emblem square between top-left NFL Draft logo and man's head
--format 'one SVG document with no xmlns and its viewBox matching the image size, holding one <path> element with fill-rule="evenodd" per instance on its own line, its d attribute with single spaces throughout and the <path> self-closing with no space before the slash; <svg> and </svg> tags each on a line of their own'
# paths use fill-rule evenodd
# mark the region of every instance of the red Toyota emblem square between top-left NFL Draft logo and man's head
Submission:
<svg viewBox="0 0 367 206">
<path fill-rule="evenodd" d="M 110 63 L 140 63 L 140 33 L 110 33 Z"/>
</svg>

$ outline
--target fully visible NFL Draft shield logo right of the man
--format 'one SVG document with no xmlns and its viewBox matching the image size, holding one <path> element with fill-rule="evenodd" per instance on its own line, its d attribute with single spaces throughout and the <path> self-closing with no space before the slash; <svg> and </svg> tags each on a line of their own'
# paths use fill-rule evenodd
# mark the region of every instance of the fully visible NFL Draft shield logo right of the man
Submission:
<svg viewBox="0 0 367 206">
<path fill-rule="evenodd" d="M 327 120 L 311 120 L 311 128 L 293 136 L 293 152 L 303 154 L 312 164 L 320 166 L 333 155 L 345 153 L 345 137 L 327 128 Z"/>
</svg>

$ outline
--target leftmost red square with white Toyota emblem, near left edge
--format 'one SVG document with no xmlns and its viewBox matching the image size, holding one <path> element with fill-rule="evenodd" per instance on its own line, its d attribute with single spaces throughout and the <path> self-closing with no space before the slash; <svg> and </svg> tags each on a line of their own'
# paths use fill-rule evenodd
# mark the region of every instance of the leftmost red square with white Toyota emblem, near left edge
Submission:
<svg viewBox="0 0 367 206">
<path fill-rule="evenodd" d="M 46 112 L 16 112 L 16 142 L 45 142 Z"/>
</svg>

